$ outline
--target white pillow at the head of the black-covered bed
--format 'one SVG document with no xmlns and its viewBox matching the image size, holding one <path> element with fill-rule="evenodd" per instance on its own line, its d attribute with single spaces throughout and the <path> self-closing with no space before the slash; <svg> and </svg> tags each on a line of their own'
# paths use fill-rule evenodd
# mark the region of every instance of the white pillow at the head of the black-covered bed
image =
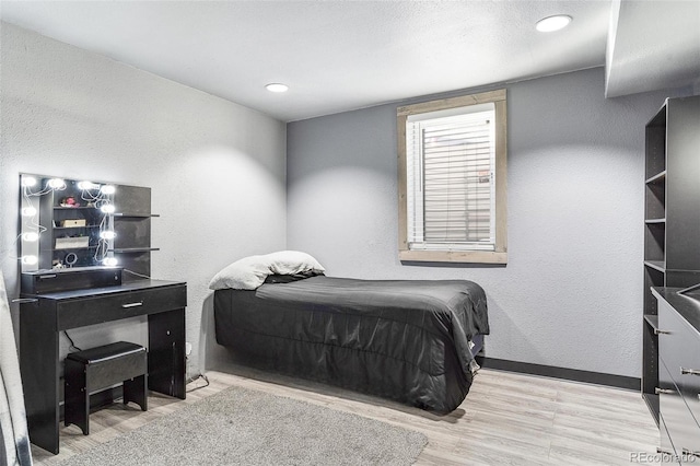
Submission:
<svg viewBox="0 0 700 466">
<path fill-rule="evenodd" d="M 316 259 L 299 251 L 280 251 L 262 256 L 248 256 L 223 268 L 209 282 L 211 290 L 255 290 L 275 275 L 294 275 L 326 270 Z"/>
</svg>

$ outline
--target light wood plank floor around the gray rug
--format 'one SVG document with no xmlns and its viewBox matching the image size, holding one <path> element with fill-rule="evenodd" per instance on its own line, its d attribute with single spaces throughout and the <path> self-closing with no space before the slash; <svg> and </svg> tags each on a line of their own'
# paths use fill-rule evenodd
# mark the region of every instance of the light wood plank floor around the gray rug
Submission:
<svg viewBox="0 0 700 466">
<path fill-rule="evenodd" d="M 481 370 L 460 407 L 438 417 L 327 385 L 237 366 L 225 371 L 208 372 L 210 386 L 188 393 L 186 400 L 153 394 L 148 412 L 121 404 L 94 412 L 89 436 L 61 424 L 61 453 L 54 456 L 33 445 L 35 464 L 56 464 L 232 385 L 422 432 L 429 443 L 419 465 L 629 466 L 632 453 L 653 454 L 658 444 L 656 426 L 637 392 Z M 197 385 L 203 381 L 188 389 Z"/>
</svg>

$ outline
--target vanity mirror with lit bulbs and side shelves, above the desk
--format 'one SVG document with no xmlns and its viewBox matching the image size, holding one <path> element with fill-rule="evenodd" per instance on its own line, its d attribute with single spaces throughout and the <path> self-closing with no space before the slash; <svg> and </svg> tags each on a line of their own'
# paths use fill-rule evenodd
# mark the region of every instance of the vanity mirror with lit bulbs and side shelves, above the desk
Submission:
<svg viewBox="0 0 700 466">
<path fill-rule="evenodd" d="M 152 217 L 150 188 L 22 173 L 21 271 L 120 266 L 149 276 Z"/>
</svg>

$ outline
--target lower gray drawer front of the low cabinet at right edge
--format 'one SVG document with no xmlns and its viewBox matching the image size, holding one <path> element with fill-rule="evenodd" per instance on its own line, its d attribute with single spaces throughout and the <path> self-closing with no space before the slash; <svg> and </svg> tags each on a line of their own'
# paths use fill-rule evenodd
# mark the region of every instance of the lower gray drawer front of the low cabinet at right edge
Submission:
<svg viewBox="0 0 700 466">
<path fill-rule="evenodd" d="M 662 388 L 658 396 L 661 416 L 664 418 L 670 442 L 681 464 L 696 463 L 700 457 L 692 453 L 700 454 L 700 427 L 695 422 L 666 364 L 662 361 L 658 365 L 658 384 Z"/>
</svg>

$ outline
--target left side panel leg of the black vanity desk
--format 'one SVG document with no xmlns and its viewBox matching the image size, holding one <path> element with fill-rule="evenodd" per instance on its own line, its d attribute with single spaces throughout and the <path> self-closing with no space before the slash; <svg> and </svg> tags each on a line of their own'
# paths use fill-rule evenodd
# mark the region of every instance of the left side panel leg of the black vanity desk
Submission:
<svg viewBox="0 0 700 466">
<path fill-rule="evenodd" d="M 55 325 L 55 314 L 39 303 L 21 305 L 20 369 L 30 441 L 58 454 L 59 334 Z"/>
</svg>

